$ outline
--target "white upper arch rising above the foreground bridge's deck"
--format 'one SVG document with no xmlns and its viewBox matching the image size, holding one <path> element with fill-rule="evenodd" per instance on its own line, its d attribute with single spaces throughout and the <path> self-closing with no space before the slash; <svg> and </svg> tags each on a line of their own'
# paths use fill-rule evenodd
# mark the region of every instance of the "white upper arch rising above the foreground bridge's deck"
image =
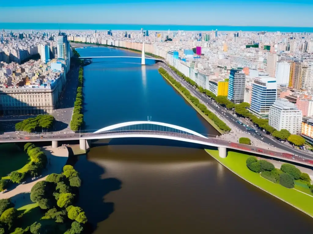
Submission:
<svg viewBox="0 0 313 234">
<path fill-rule="evenodd" d="M 120 123 L 120 124 L 113 124 L 113 125 L 107 126 L 105 128 L 99 129 L 99 130 L 95 131 L 94 133 L 112 131 L 114 129 L 119 129 L 119 128 L 128 127 L 128 126 L 132 126 L 132 125 L 140 125 L 140 124 L 151 124 L 151 125 L 163 126 L 163 127 L 170 128 L 170 129 L 171 128 L 177 129 L 177 130 L 180 130 L 182 132 L 186 132 L 188 134 L 192 134 L 192 135 L 199 136 L 202 138 L 207 138 L 207 137 L 203 136 L 202 134 L 197 133 L 197 132 L 192 131 L 192 130 L 187 129 L 187 128 L 183 128 L 183 127 L 180 127 L 180 126 L 177 126 L 174 124 L 166 124 L 166 123 L 155 122 L 155 121 L 131 121 L 131 122 L 125 122 L 125 123 Z"/>
</svg>

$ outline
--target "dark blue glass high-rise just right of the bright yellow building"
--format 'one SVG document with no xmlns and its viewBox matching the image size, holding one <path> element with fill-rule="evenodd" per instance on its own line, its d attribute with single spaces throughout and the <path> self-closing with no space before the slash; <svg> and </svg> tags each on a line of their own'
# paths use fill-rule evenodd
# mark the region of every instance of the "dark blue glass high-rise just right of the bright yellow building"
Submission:
<svg viewBox="0 0 313 234">
<path fill-rule="evenodd" d="M 246 75 L 241 69 L 231 69 L 228 83 L 227 99 L 235 104 L 244 101 L 244 88 L 246 83 Z"/>
</svg>

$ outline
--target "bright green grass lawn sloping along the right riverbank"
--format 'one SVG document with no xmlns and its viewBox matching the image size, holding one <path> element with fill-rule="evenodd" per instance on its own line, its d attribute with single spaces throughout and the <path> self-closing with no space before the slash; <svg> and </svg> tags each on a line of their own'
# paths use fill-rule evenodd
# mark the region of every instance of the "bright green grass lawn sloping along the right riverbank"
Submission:
<svg viewBox="0 0 313 234">
<path fill-rule="evenodd" d="M 260 188 L 263 188 L 267 192 L 280 197 L 286 202 L 289 202 L 295 207 L 298 207 L 299 209 L 313 216 L 313 197 L 301 193 L 295 189 L 285 188 L 280 184 L 272 183 L 261 177 L 260 174 L 250 171 L 246 166 L 246 159 L 249 157 L 249 155 L 228 151 L 227 158 L 220 158 L 218 156 L 218 150 L 206 149 L 206 151 L 214 158 L 218 159 L 218 161 L 220 161 L 223 165 L 240 175 L 242 178 L 256 186 L 259 186 Z M 302 190 L 305 189 L 299 185 L 296 186 L 297 189 L 299 187 Z"/>
</svg>

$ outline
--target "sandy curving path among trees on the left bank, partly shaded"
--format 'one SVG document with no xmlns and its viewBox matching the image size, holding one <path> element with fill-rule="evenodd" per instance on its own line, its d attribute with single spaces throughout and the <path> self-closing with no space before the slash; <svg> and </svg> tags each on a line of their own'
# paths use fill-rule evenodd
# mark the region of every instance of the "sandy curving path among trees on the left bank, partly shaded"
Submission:
<svg viewBox="0 0 313 234">
<path fill-rule="evenodd" d="M 43 147 L 44 153 L 47 155 L 48 161 L 50 158 L 51 165 L 47 164 L 47 168 L 44 170 L 42 176 L 35 181 L 29 183 L 20 184 L 13 190 L 7 193 L 0 193 L 0 199 L 12 198 L 12 202 L 15 202 L 15 208 L 22 207 L 29 202 L 29 193 L 35 183 L 45 180 L 51 173 L 61 173 L 62 168 L 65 165 L 69 156 L 68 150 L 62 147 L 51 148 L 51 146 Z M 23 197 L 24 196 L 24 197 Z"/>
</svg>

